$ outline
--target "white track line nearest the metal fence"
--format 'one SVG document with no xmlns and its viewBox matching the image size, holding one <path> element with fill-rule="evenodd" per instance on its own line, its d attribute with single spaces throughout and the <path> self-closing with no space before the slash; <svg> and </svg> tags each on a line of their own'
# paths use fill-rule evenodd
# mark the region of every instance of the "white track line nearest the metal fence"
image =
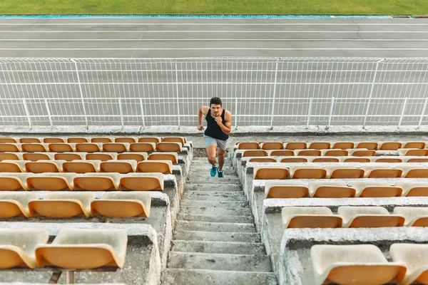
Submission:
<svg viewBox="0 0 428 285">
<path fill-rule="evenodd" d="M 428 51 L 428 48 L 0 48 L 0 51 Z"/>
</svg>

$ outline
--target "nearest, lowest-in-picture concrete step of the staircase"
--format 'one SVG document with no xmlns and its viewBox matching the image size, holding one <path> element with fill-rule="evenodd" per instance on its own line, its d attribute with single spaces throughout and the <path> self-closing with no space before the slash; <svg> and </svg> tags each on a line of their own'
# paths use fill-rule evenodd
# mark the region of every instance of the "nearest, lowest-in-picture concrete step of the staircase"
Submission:
<svg viewBox="0 0 428 285">
<path fill-rule="evenodd" d="M 163 285 L 277 285 L 275 274 L 268 272 L 220 271 L 206 269 L 164 269 Z"/>
</svg>

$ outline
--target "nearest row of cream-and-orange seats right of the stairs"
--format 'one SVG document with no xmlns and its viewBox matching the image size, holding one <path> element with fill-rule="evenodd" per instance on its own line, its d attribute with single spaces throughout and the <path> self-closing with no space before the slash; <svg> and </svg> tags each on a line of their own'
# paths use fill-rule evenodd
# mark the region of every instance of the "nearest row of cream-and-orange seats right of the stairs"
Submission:
<svg viewBox="0 0 428 285">
<path fill-rule="evenodd" d="M 392 244 L 392 261 L 373 244 L 316 244 L 310 249 L 315 285 L 428 284 L 428 244 Z"/>
</svg>

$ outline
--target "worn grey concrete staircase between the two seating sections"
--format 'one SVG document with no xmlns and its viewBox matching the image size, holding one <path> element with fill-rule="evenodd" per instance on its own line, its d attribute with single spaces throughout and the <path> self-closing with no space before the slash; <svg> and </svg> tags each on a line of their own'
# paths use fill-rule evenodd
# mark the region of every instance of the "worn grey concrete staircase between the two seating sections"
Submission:
<svg viewBox="0 0 428 285">
<path fill-rule="evenodd" d="M 193 158 L 163 284 L 276 285 L 230 159 L 225 177 L 209 170 L 205 157 Z"/>
</svg>

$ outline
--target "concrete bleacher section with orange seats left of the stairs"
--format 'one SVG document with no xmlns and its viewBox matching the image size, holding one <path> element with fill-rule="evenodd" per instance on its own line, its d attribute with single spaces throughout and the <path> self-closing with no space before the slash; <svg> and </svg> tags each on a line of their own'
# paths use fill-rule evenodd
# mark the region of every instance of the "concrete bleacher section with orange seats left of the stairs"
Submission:
<svg viewBox="0 0 428 285">
<path fill-rule="evenodd" d="M 192 157 L 185 138 L 0 138 L 0 229 L 46 229 L 50 240 L 62 229 L 123 230 L 121 269 L 72 268 L 77 280 L 159 284 Z M 53 270 L 2 269 L 0 281 L 43 283 Z"/>
</svg>

